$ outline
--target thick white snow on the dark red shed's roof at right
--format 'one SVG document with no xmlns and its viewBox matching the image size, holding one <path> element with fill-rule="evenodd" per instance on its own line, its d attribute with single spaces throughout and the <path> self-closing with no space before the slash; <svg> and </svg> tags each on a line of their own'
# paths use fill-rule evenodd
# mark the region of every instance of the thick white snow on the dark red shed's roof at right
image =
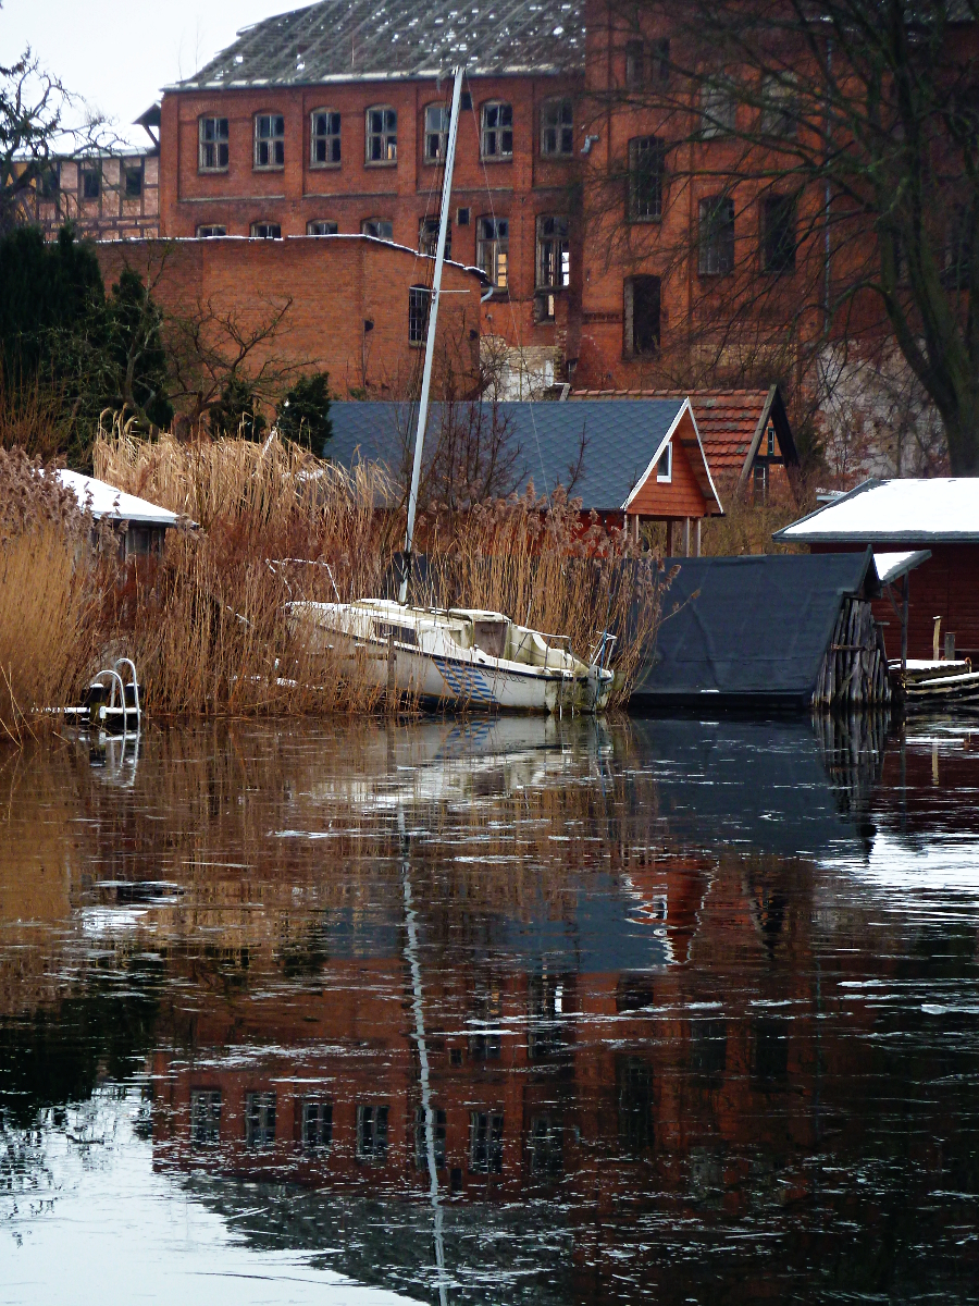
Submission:
<svg viewBox="0 0 979 1306">
<path fill-rule="evenodd" d="M 796 545 L 979 543 L 979 479 L 864 481 L 773 538 Z"/>
</svg>

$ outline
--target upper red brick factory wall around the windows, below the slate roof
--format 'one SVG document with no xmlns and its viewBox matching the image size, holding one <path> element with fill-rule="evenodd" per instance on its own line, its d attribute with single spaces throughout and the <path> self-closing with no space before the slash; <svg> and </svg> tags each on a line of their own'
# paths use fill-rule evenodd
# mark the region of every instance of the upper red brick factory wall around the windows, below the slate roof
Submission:
<svg viewBox="0 0 979 1306">
<path fill-rule="evenodd" d="M 540 108 L 546 99 L 577 94 L 574 77 L 500 77 L 469 84 L 473 112 L 459 124 L 452 197 L 452 252 L 462 263 L 476 259 L 476 219 L 495 214 L 510 225 L 509 302 L 500 296 L 484 306 L 484 330 L 510 343 L 555 343 L 553 323 L 534 323 L 535 221 L 540 214 L 574 214 L 578 154 L 552 161 L 540 155 Z M 513 159 L 479 158 L 478 118 L 486 101 L 513 106 Z M 418 247 L 419 219 L 440 209 L 441 170 L 423 158 L 423 115 L 429 103 L 446 103 L 446 86 L 431 82 L 349 82 L 328 86 L 268 90 L 181 91 L 164 95 L 161 125 L 162 232 L 194 235 L 198 226 L 222 223 L 228 235 L 247 235 L 251 223 L 278 222 L 283 235 L 302 235 L 311 219 L 329 219 L 341 232 L 359 232 L 364 218 L 394 225 L 394 240 Z M 364 114 L 369 106 L 390 104 L 398 114 L 396 165 L 364 162 Z M 309 163 L 311 114 L 333 108 L 341 114 L 342 163 Z M 252 167 L 253 115 L 285 116 L 285 166 L 279 171 Z M 228 119 L 230 161 L 226 174 L 197 170 L 197 119 L 202 114 Z M 470 209 L 470 225 L 458 226 L 456 213 Z M 580 283 L 581 242 L 573 226 L 573 281 Z"/>
</svg>

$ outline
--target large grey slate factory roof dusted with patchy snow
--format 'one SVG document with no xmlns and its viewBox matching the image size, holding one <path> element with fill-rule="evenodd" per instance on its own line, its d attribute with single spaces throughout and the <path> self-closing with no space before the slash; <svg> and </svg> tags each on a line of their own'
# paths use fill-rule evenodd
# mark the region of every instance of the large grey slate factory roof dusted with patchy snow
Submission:
<svg viewBox="0 0 979 1306">
<path fill-rule="evenodd" d="M 583 0 L 321 0 L 244 27 L 171 90 L 583 72 Z"/>
</svg>

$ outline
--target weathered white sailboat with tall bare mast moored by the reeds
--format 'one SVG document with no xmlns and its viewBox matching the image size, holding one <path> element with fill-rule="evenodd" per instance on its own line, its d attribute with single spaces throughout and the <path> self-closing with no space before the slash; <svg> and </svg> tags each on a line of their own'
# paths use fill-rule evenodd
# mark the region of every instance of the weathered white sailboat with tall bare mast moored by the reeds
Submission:
<svg viewBox="0 0 979 1306">
<path fill-rule="evenodd" d="M 454 69 L 398 599 L 292 602 L 288 605 L 290 624 L 294 629 L 302 627 L 313 653 L 337 650 L 343 657 L 359 658 L 368 678 L 389 693 L 487 710 L 563 712 L 568 708 L 599 712 L 608 703 L 612 691 L 614 675 L 607 665 L 615 643 L 612 636 L 603 635 L 590 661 L 585 662 L 568 648 L 565 637 L 520 626 L 504 613 L 470 607 L 419 607 L 409 603 L 411 547 L 428 422 L 463 76 L 463 67 Z"/>
</svg>

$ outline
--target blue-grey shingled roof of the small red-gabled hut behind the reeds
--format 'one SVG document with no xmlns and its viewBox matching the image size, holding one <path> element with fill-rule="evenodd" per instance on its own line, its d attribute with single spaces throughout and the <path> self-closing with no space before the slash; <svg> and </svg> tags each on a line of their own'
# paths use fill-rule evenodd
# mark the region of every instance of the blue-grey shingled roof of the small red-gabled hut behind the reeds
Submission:
<svg viewBox="0 0 979 1306">
<path fill-rule="evenodd" d="M 623 507 L 649 466 L 685 400 L 636 400 L 620 404 L 582 400 L 577 404 L 499 405 L 499 419 L 509 424 L 508 445 L 518 451 L 513 488 L 534 482 L 538 494 L 551 494 L 572 481 L 585 441 L 581 470 L 572 488 L 585 509 Z M 483 405 L 491 421 L 491 405 Z M 414 448 L 416 409 L 407 404 L 332 404 L 333 436 L 326 457 L 341 466 L 384 462 L 396 474 L 406 466 L 406 444 Z M 444 421 L 443 405 L 432 404 L 426 454 L 432 456 Z"/>
</svg>

